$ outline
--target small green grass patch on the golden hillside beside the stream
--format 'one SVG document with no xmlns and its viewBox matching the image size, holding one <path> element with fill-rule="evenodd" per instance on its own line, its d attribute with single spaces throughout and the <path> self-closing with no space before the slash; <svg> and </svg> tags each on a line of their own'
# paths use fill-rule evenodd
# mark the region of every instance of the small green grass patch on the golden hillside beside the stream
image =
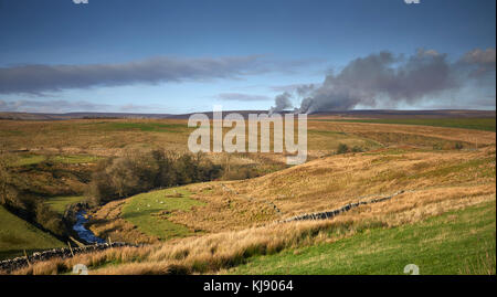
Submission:
<svg viewBox="0 0 497 297">
<path fill-rule="evenodd" d="M 167 218 L 175 211 L 188 211 L 194 205 L 203 205 L 189 198 L 190 194 L 184 188 L 175 188 L 135 195 L 123 206 L 121 218 L 138 226 L 141 232 L 161 240 L 186 236 L 191 231 Z"/>
</svg>

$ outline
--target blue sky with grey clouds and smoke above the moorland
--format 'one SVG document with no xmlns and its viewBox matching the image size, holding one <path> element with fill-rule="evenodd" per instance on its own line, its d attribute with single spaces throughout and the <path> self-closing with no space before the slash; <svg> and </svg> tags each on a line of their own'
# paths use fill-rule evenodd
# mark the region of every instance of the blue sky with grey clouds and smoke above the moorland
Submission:
<svg viewBox="0 0 497 297">
<path fill-rule="evenodd" d="M 0 112 L 495 110 L 495 0 L 0 0 Z"/>
</svg>

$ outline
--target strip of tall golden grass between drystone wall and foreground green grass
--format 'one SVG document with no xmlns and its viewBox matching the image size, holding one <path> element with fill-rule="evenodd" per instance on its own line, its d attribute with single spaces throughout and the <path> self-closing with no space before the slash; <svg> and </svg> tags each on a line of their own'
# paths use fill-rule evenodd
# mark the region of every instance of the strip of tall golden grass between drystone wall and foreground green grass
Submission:
<svg viewBox="0 0 497 297">
<path fill-rule="evenodd" d="M 17 274 L 55 274 L 82 263 L 91 274 L 197 274 L 216 273 L 236 266 L 253 255 L 273 254 L 284 248 L 335 242 L 371 226 L 392 227 L 419 222 L 480 202 L 495 200 L 494 194 L 448 195 L 426 191 L 404 193 L 394 199 L 355 209 L 327 221 L 269 224 L 243 231 L 221 232 L 201 237 L 155 244 L 140 248 L 113 248 L 74 258 L 38 263 Z M 431 197 L 436 199 L 430 199 Z M 420 203 L 422 201 L 422 203 Z"/>
</svg>

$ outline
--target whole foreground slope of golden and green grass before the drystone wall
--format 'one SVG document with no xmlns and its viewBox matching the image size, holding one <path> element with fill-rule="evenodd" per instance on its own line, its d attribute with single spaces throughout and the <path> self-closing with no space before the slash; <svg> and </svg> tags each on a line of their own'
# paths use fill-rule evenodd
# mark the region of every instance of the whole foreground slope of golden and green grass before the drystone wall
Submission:
<svg viewBox="0 0 497 297">
<path fill-rule="evenodd" d="M 295 267 L 294 273 L 305 272 L 305 267 L 325 273 L 328 266 L 318 263 L 322 261 L 343 274 L 402 274 L 410 263 L 419 265 L 422 274 L 488 274 L 495 273 L 495 194 L 466 197 L 465 202 L 437 201 L 435 205 L 411 208 L 402 203 L 398 210 L 391 204 L 399 201 L 391 201 L 334 220 L 271 224 L 140 248 L 113 248 L 39 263 L 17 273 L 64 274 L 76 263 L 85 264 L 91 274 L 252 273 L 237 269 L 257 267 L 251 266 L 257 261 L 266 265 L 266 259 L 274 261 L 267 265 L 277 269 L 277 261 L 302 255 L 302 262 L 289 265 Z M 457 252 L 462 254 L 457 256 Z M 350 266 L 355 261 L 363 261 L 362 266 L 358 264 L 362 271 Z M 283 269 L 281 273 L 287 272 Z"/>
</svg>

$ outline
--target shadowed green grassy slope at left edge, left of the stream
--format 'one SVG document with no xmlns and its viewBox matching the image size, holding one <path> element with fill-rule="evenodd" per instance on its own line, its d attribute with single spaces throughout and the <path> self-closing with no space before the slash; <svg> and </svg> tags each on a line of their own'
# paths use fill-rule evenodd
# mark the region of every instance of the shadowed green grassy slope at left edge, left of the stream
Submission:
<svg viewBox="0 0 497 297">
<path fill-rule="evenodd" d="M 23 255 L 36 250 L 65 246 L 52 235 L 44 233 L 30 223 L 0 206 L 0 258 Z"/>
</svg>

